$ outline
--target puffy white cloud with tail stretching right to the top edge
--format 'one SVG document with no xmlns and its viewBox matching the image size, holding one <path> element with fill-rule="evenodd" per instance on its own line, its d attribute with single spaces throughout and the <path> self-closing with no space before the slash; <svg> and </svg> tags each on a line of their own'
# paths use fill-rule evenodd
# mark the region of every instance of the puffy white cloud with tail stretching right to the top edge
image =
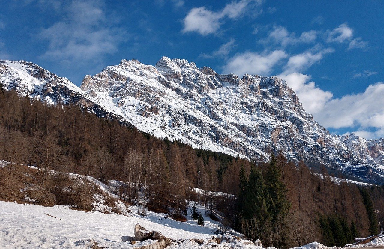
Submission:
<svg viewBox="0 0 384 249">
<path fill-rule="evenodd" d="M 205 7 L 192 8 L 184 18 L 183 32 L 197 32 L 201 35 L 216 33 L 226 18 L 236 19 L 250 5 L 259 5 L 260 0 L 240 0 L 225 5 L 222 10 L 211 11 Z"/>
</svg>

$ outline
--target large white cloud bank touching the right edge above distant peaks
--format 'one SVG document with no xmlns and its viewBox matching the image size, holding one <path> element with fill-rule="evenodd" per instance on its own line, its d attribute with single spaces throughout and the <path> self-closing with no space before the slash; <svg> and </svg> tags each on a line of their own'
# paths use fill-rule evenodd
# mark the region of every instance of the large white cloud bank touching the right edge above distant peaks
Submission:
<svg viewBox="0 0 384 249">
<path fill-rule="evenodd" d="M 336 129 L 357 126 L 356 134 L 377 138 L 384 135 L 383 95 L 384 83 L 378 82 L 368 86 L 363 93 L 329 100 L 314 116 L 323 126 Z M 376 131 L 367 131 L 372 127 Z"/>
</svg>

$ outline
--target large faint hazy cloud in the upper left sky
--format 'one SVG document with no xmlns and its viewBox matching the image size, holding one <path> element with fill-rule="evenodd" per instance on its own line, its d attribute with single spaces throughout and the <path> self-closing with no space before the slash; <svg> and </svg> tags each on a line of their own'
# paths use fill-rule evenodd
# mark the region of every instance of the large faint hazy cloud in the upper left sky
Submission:
<svg viewBox="0 0 384 249">
<path fill-rule="evenodd" d="M 61 5 L 62 20 L 43 29 L 38 37 L 49 42 L 43 57 L 61 61 L 94 61 L 117 51 L 124 31 L 111 26 L 97 1 L 74 0 Z"/>
</svg>

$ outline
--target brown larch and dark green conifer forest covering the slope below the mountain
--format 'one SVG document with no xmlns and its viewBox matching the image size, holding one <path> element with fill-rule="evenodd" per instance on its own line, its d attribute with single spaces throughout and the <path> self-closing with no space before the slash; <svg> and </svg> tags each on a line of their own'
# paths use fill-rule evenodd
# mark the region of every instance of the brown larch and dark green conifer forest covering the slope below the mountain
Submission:
<svg viewBox="0 0 384 249">
<path fill-rule="evenodd" d="M 147 209 L 180 220 L 188 201 L 199 201 L 208 208 L 200 214 L 191 206 L 199 224 L 209 216 L 265 246 L 344 246 L 384 228 L 381 186 L 334 183 L 326 168 L 311 171 L 281 154 L 265 163 L 194 149 L 76 105 L 47 106 L 14 91 L 0 92 L 0 159 L 8 162 L 0 168 L 0 199 L 6 201 L 25 201 L 28 189 L 41 205 L 92 209 L 92 189 L 72 188 L 63 174 L 52 173 L 60 171 L 131 183 L 121 188 L 127 203 L 145 193 Z"/>
</svg>

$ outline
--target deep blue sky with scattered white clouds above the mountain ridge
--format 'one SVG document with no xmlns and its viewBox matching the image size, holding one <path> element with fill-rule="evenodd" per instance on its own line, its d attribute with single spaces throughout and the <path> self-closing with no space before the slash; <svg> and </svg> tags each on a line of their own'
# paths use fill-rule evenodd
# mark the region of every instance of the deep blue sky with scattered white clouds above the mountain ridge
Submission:
<svg viewBox="0 0 384 249">
<path fill-rule="evenodd" d="M 382 1 L 15 0 L 0 58 L 76 85 L 122 59 L 184 58 L 218 73 L 278 75 L 332 133 L 384 137 Z"/>
</svg>

